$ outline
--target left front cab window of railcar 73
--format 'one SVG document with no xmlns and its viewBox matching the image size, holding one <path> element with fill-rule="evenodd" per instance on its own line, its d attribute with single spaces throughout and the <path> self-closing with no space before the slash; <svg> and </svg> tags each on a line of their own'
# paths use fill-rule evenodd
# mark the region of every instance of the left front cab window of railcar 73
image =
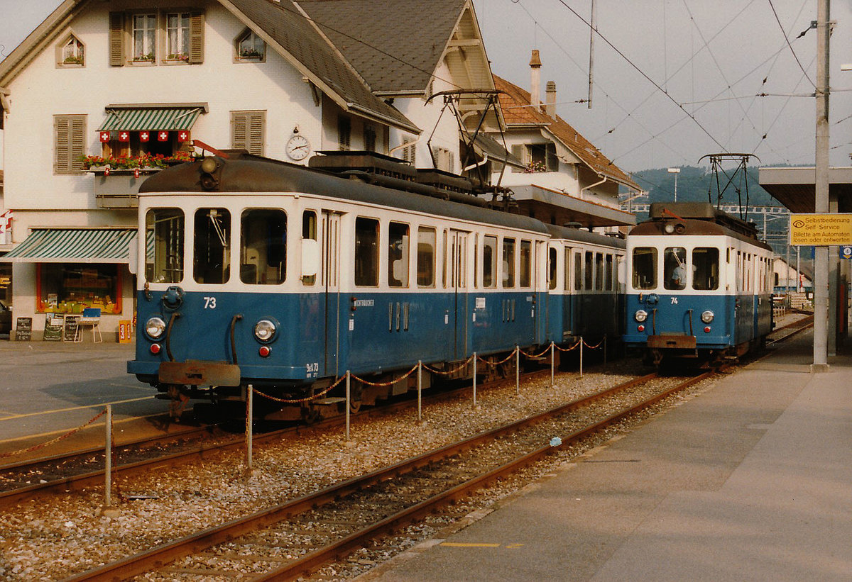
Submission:
<svg viewBox="0 0 852 582">
<path fill-rule="evenodd" d="M 183 211 L 180 208 L 151 208 L 145 215 L 145 280 L 183 280 Z"/>
</svg>

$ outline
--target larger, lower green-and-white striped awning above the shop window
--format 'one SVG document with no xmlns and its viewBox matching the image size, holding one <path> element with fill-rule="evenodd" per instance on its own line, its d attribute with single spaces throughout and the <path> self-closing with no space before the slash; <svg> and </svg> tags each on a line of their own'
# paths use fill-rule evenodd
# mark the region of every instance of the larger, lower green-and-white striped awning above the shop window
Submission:
<svg viewBox="0 0 852 582">
<path fill-rule="evenodd" d="M 136 231 L 126 228 L 36 228 L 0 257 L 10 263 L 129 263 Z"/>
</svg>

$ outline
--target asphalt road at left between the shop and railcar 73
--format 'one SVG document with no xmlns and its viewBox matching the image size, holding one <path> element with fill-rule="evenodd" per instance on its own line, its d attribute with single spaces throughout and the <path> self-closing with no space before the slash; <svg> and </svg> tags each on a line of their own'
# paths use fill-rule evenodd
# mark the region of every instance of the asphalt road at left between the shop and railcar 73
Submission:
<svg viewBox="0 0 852 582">
<path fill-rule="evenodd" d="M 0 454 L 84 425 L 107 403 L 117 440 L 130 419 L 162 428 L 169 404 L 127 374 L 133 351 L 130 344 L 0 341 Z"/>
</svg>

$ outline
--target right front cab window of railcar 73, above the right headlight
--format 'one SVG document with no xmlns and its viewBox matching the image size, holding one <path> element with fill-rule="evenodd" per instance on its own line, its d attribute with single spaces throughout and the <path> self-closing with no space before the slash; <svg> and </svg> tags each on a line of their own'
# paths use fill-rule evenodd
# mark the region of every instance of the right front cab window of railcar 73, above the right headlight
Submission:
<svg viewBox="0 0 852 582">
<path fill-rule="evenodd" d="M 278 285 L 287 276 L 287 215 L 275 208 L 250 208 L 240 217 L 239 280 Z"/>
</svg>

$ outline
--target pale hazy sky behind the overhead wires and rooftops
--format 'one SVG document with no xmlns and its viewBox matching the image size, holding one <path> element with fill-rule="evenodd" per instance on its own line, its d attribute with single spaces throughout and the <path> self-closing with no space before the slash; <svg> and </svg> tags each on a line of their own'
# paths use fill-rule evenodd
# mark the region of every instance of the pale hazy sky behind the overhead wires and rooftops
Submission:
<svg viewBox="0 0 852 582">
<path fill-rule="evenodd" d="M 59 3 L 0 0 L 0 57 Z M 559 115 L 625 170 L 698 165 L 721 151 L 764 166 L 814 163 L 816 31 L 796 37 L 816 0 L 597 0 L 606 40 L 595 39 L 591 109 L 576 102 L 589 93 L 591 0 L 474 4 L 492 71 L 528 90 L 538 48 Z M 832 20 L 831 162 L 849 166 L 852 71 L 840 65 L 852 62 L 852 2 L 833 0 Z"/>
</svg>

